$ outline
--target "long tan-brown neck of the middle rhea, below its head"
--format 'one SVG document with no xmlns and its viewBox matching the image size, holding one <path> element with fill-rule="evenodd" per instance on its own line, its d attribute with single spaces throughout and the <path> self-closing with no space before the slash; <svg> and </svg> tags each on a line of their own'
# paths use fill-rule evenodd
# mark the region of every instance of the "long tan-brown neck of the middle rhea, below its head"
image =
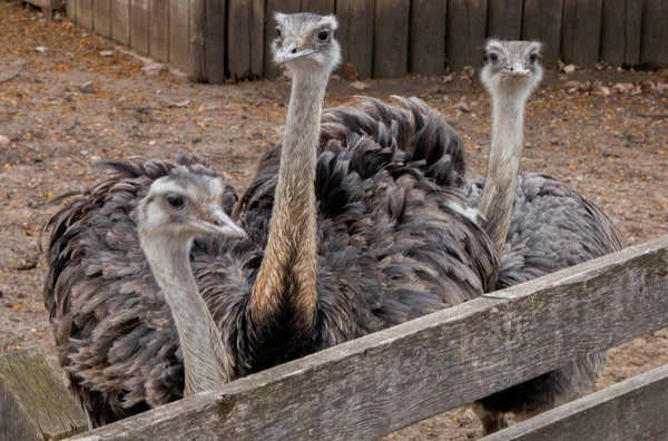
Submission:
<svg viewBox="0 0 668 441">
<path fill-rule="evenodd" d="M 315 174 L 327 75 L 293 72 L 281 168 L 269 237 L 250 298 L 256 323 L 293 312 L 294 325 L 311 330 L 317 303 Z"/>
</svg>

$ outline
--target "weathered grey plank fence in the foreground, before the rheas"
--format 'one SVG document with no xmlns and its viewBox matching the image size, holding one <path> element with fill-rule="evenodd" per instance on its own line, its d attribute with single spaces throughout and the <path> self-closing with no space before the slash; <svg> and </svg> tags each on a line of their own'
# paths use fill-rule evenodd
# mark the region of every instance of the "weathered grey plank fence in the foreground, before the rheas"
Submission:
<svg viewBox="0 0 668 441">
<path fill-rule="evenodd" d="M 41 352 L 9 353 L 0 439 L 374 439 L 667 325 L 668 236 L 88 433 Z M 489 440 L 664 440 L 667 392 L 668 365 Z"/>
</svg>

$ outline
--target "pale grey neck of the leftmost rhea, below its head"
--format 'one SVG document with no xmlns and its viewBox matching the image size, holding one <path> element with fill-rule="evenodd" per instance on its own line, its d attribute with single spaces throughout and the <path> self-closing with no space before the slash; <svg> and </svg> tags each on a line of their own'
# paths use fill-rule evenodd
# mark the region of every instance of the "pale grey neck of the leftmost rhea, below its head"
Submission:
<svg viewBox="0 0 668 441">
<path fill-rule="evenodd" d="M 191 241 L 175 241 L 159 234 L 141 239 L 144 254 L 178 330 L 186 396 L 228 383 L 234 367 L 226 356 L 218 327 L 197 290 L 190 268 L 190 245 Z"/>
</svg>

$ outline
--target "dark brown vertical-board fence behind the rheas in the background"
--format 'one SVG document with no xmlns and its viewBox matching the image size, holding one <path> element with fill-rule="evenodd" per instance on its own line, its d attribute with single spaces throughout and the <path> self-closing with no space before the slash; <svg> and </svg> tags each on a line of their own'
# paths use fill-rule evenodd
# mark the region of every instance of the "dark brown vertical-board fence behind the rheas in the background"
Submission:
<svg viewBox="0 0 668 441">
<path fill-rule="evenodd" d="M 479 66 L 485 38 L 538 39 L 544 61 L 668 66 L 666 0 L 67 0 L 78 26 L 194 80 L 273 78 L 273 13 L 336 13 L 360 77 Z"/>
</svg>

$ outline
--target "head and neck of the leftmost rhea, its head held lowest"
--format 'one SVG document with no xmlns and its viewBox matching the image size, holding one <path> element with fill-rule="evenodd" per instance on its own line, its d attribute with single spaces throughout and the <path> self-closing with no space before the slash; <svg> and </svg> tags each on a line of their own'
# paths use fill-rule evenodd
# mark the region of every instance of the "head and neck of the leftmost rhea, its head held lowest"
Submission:
<svg viewBox="0 0 668 441">
<path fill-rule="evenodd" d="M 177 167 L 153 183 L 136 210 L 141 249 L 178 332 L 186 396 L 228 383 L 234 372 L 190 268 L 196 237 L 245 237 L 218 205 L 224 186 L 218 178 Z"/>
</svg>

